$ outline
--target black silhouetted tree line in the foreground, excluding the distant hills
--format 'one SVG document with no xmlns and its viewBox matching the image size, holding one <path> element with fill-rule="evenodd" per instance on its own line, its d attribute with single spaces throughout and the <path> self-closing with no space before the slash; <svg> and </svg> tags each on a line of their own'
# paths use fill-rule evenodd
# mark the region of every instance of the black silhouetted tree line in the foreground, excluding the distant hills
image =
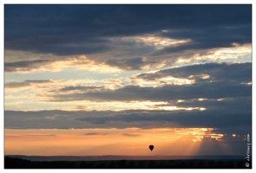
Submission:
<svg viewBox="0 0 256 173">
<path fill-rule="evenodd" d="M 244 160 L 30 161 L 4 157 L 4 169 L 252 169 Z"/>
</svg>

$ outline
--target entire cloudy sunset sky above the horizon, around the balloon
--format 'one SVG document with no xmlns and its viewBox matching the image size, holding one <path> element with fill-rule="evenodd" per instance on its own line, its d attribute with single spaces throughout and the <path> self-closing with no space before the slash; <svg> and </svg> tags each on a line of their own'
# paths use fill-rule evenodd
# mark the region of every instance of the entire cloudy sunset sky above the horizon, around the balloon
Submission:
<svg viewBox="0 0 256 173">
<path fill-rule="evenodd" d="M 249 3 L 4 4 L 4 154 L 246 157 L 252 52 Z"/>
</svg>

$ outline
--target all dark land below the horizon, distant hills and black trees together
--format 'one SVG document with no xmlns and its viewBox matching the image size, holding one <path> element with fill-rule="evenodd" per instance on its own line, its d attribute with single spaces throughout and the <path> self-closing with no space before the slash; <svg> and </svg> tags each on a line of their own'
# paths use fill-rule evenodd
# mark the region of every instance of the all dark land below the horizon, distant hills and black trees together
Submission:
<svg viewBox="0 0 256 173">
<path fill-rule="evenodd" d="M 5 156 L 4 169 L 252 169 L 241 156 Z"/>
</svg>

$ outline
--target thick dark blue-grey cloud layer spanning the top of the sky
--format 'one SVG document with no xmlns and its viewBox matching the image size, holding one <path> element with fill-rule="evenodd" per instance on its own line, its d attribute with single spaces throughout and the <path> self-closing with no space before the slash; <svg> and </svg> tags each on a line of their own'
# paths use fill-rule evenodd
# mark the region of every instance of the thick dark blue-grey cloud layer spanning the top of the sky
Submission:
<svg viewBox="0 0 256 173">
<path fill-rule="evenodd" d="M 191 42 L 155 49 L 111 39 L 135 35 Z M 154 58 L 142 61 L 142 56 L 233 47 L 233 42 L 252 42 L 252 5 L 4 5 L 5 49 L 56 55 L 111 52 L 115 59 L 102 57 L 99 62 L 124 70 L 155 63 Z M 132 52 L 139 49 L 141 53 L 129 57 L 131 51 L 123 49 L 127 44 L 133 45 Z M 126 60 L 120 51 L 125 52 Z M 5 71 L 29 64 L 35 67 L 37 63 L 6 63 Z"/>
</svg>

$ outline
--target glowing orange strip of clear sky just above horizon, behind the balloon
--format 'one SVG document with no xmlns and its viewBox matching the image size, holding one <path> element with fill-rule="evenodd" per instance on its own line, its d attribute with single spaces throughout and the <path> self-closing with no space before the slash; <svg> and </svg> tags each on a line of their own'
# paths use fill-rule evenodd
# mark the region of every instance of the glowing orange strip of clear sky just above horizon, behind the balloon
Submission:
<svg viewBox="0 0 256 173">
<path fill-rule="evenodd" d="M 5 155 L 101 156 L 196 155 L 212 128 L 13 130 L 4 135 Z M 154 144 L 154 152 L 148 150 Z M 182 149 L 182 150 L 181 150 Z"/>
</svg>

